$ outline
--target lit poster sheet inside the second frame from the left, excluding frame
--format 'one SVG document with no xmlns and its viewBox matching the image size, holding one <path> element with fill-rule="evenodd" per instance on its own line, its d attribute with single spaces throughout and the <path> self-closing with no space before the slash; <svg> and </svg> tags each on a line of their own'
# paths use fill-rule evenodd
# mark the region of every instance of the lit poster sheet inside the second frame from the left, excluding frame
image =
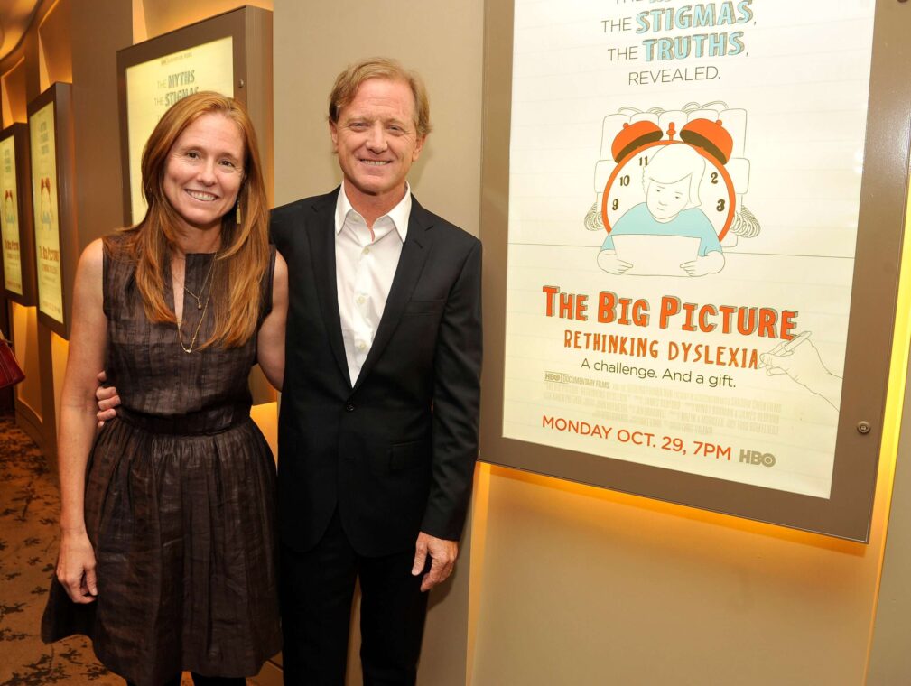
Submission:
<svg viewBox="0 0 911 686">
<path fill-rule="evenodd" d="M 56 322 L 64 323 L 53 102 L 28 118 L 28 131 L 32 152 L 38 309 Z"/>
</svg>

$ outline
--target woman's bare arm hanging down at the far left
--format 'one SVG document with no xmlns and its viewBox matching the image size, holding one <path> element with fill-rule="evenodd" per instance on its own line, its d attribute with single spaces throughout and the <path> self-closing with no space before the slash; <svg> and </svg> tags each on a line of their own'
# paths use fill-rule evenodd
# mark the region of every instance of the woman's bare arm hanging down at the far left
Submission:
<svg viewBox="0 0 911 686">
<path fill-rule="evenodd" d="M 97 596 L 95 552 L 85 519 L 86 463 L 95 438 L 97 370 L 104 366 L 107 317 L 103 302 L 103 247 L 88 245 L 79 259 L 73 289 L 73 328 L 67 374 L 60 400 L 58 461 L 60 464 L 60 557 L 56 574 L 74 602 Z"/>
</svg>

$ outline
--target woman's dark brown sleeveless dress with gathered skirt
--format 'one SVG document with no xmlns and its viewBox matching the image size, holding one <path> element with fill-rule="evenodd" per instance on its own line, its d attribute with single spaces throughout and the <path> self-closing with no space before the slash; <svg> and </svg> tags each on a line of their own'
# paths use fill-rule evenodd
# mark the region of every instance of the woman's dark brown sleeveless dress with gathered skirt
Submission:
<svg viewBox="0 0 911 686">
<path fill-rule="evenodd" d="M 200 293 L 212 259 L 187 255 L 189 290 Z M 260 323 L 274 265 L 273 248 Z M 110 671 L 138 686 L 159 686 L 179 671 L 252 676 L 281 649 L 275 463 L 250 418 L 247 381 L 256 336 L 238 348 L 185 353 L 173 323 L 146 318 L 134 271 L 106 246 L 106 370 L 121 406 L 87 465 L 98 596 L 74 603 L 55 578 L 42 639 L 85 634 Z M 224 282 L 212 279 L 217 298 Z M 170 290 L 166 296 L 173 303 Z M 184 295 L 183 312 L 189 346 L 204 311 Z M 197 346 L 213 319 L 210 308 Z"/>
</svg>

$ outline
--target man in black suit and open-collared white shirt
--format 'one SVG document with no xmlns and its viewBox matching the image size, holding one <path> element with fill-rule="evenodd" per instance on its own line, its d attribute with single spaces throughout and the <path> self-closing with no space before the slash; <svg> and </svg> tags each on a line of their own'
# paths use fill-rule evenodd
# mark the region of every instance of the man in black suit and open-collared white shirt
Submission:
<svg viewBox="0 0 911 686">
<path fill-rule="evenodd" d="M 477 450 L 480 242 L 421 207 L 425 89 L 387 59 L 330 97 L 343 185 L 272 213 L 290 312 L 279 422 L 284 670 L 342 684 L 355 578 L 365 684 L 415 682 Z"/>
</svg>

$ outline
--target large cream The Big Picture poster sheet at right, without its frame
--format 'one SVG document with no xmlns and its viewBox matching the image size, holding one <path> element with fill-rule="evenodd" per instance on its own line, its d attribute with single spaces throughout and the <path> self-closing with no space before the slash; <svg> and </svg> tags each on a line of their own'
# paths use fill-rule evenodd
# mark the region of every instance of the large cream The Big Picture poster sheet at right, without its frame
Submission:
<svg viewBox="0 0 911 686">
<path fill-rule="evenodd" d="M 516 0 L 504 436 L 829 497 L 874 5 Z"/>
</svg>

